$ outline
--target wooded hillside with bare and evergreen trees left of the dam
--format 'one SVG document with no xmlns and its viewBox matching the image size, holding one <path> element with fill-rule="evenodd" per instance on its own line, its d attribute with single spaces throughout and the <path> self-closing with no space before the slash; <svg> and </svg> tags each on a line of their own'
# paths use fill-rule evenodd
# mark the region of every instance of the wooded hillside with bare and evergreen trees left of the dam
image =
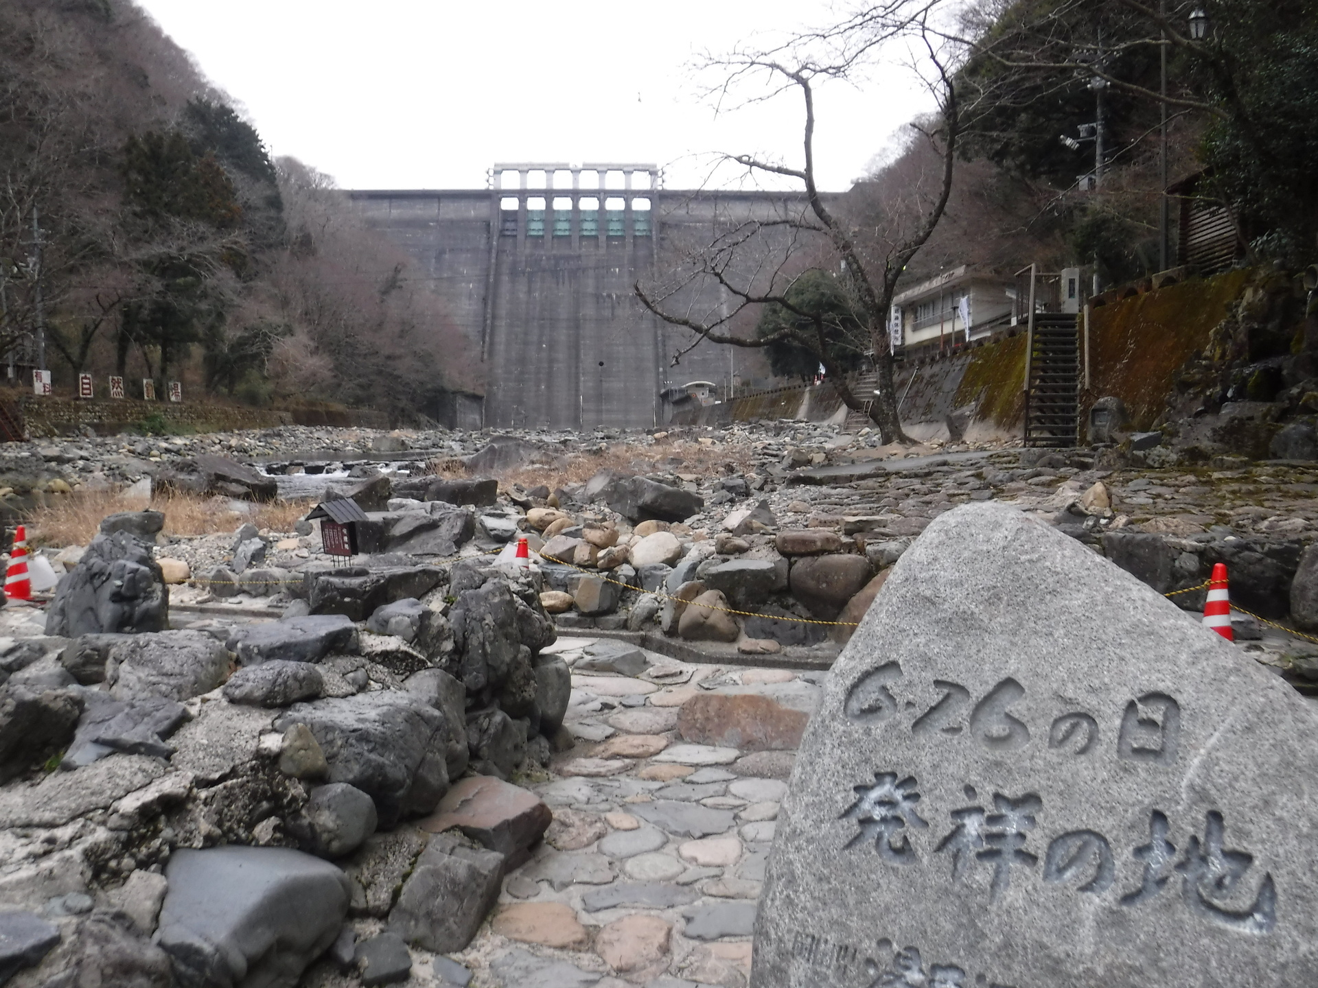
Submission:
<svg viewBox="0 0 1318 988">
<path fill-rule="evenodd" d="M 480 386 L 409 258 L 130 0 L 0 4 L 0 348 L 29 360 L 42 317 L 57 390 L 117 373 L 403 420 Z"/>
</svg>

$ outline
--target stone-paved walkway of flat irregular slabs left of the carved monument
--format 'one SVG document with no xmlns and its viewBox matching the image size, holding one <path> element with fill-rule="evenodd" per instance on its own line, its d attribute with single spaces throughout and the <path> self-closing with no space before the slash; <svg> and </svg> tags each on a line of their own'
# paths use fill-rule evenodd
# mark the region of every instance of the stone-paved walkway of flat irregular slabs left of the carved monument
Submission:
<svg viewBox="0 0 1318 988">
<path fill-rule="evenodd" d="M 530 788 L 555 822 L 457 959 L 474 971 L 473 985 L 745 985 L 795 754 L 685 743 L 679 711 L 697 696 L 725 694 L 808 713 L 824 673 L 646 652 L 652 665 L 622 676 L 581 667 L 609 667 L 610 656 L 637 649 L 565 638 L 554 651 L 573 665 L 565 726 L 576 744 L 555 757 L 552 779 Z"/>
</svg>

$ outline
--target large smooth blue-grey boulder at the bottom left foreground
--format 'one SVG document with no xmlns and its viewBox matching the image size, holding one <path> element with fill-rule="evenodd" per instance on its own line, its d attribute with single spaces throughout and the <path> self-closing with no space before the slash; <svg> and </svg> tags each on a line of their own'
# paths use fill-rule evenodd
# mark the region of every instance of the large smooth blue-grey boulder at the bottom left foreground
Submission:
<svg viewBox="0 0 1318 988">
<path fill-rule="evenodd" d="M 286 847 L 179 848 L 165 875 L 157 942 L 183 988 L 293 988 L 352 894 L 339 868 Z"/>
</svg>

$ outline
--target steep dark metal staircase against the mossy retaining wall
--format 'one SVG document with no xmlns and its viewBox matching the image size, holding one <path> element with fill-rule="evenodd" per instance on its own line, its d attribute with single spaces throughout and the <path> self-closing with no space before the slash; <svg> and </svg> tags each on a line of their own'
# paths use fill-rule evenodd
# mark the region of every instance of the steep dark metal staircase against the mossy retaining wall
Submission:
<svg viewBox="0 0 1318 988">
<path fill-rule="evenodd" d="M 1070 312 L 1036 312 L 1027 358 L 1025 445 L 1074 447 L 1079 428 L 1079 329 Z"/>
</svg>

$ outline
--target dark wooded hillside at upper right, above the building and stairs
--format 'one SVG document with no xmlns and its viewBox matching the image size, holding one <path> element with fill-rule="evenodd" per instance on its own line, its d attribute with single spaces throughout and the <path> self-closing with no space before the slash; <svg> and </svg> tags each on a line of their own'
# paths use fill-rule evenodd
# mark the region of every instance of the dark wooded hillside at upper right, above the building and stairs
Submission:
<svg viewBox="0 0 1318 988">
<path fill-rule="evenodd" d="M 1293 269 L 1314 260 L 1313 0 L 1182 0 L 1161 8 L 1140 0 L 981 0 L 960 9 L 961 22 L 950 29 L 965 53 L 956 75 L 952 195 L 904 283 L 961 263 L 1097 261 L 1108 285 L 1160 270 L 1162 47 L 1173 254 L 1178 196 L 1193 195 L 1230 207 L 1249 262 Z M 938 121 L 917 124 L 902 153 L 851 191 L 859 229 L 900 228 L 904 212 L 923 208 L 917 191 L 936 188 L 941 154 L 924 133 Z M 1181 191 L 1177 183 L 1189 177 L 1202 180 Z"/>
</svg>

